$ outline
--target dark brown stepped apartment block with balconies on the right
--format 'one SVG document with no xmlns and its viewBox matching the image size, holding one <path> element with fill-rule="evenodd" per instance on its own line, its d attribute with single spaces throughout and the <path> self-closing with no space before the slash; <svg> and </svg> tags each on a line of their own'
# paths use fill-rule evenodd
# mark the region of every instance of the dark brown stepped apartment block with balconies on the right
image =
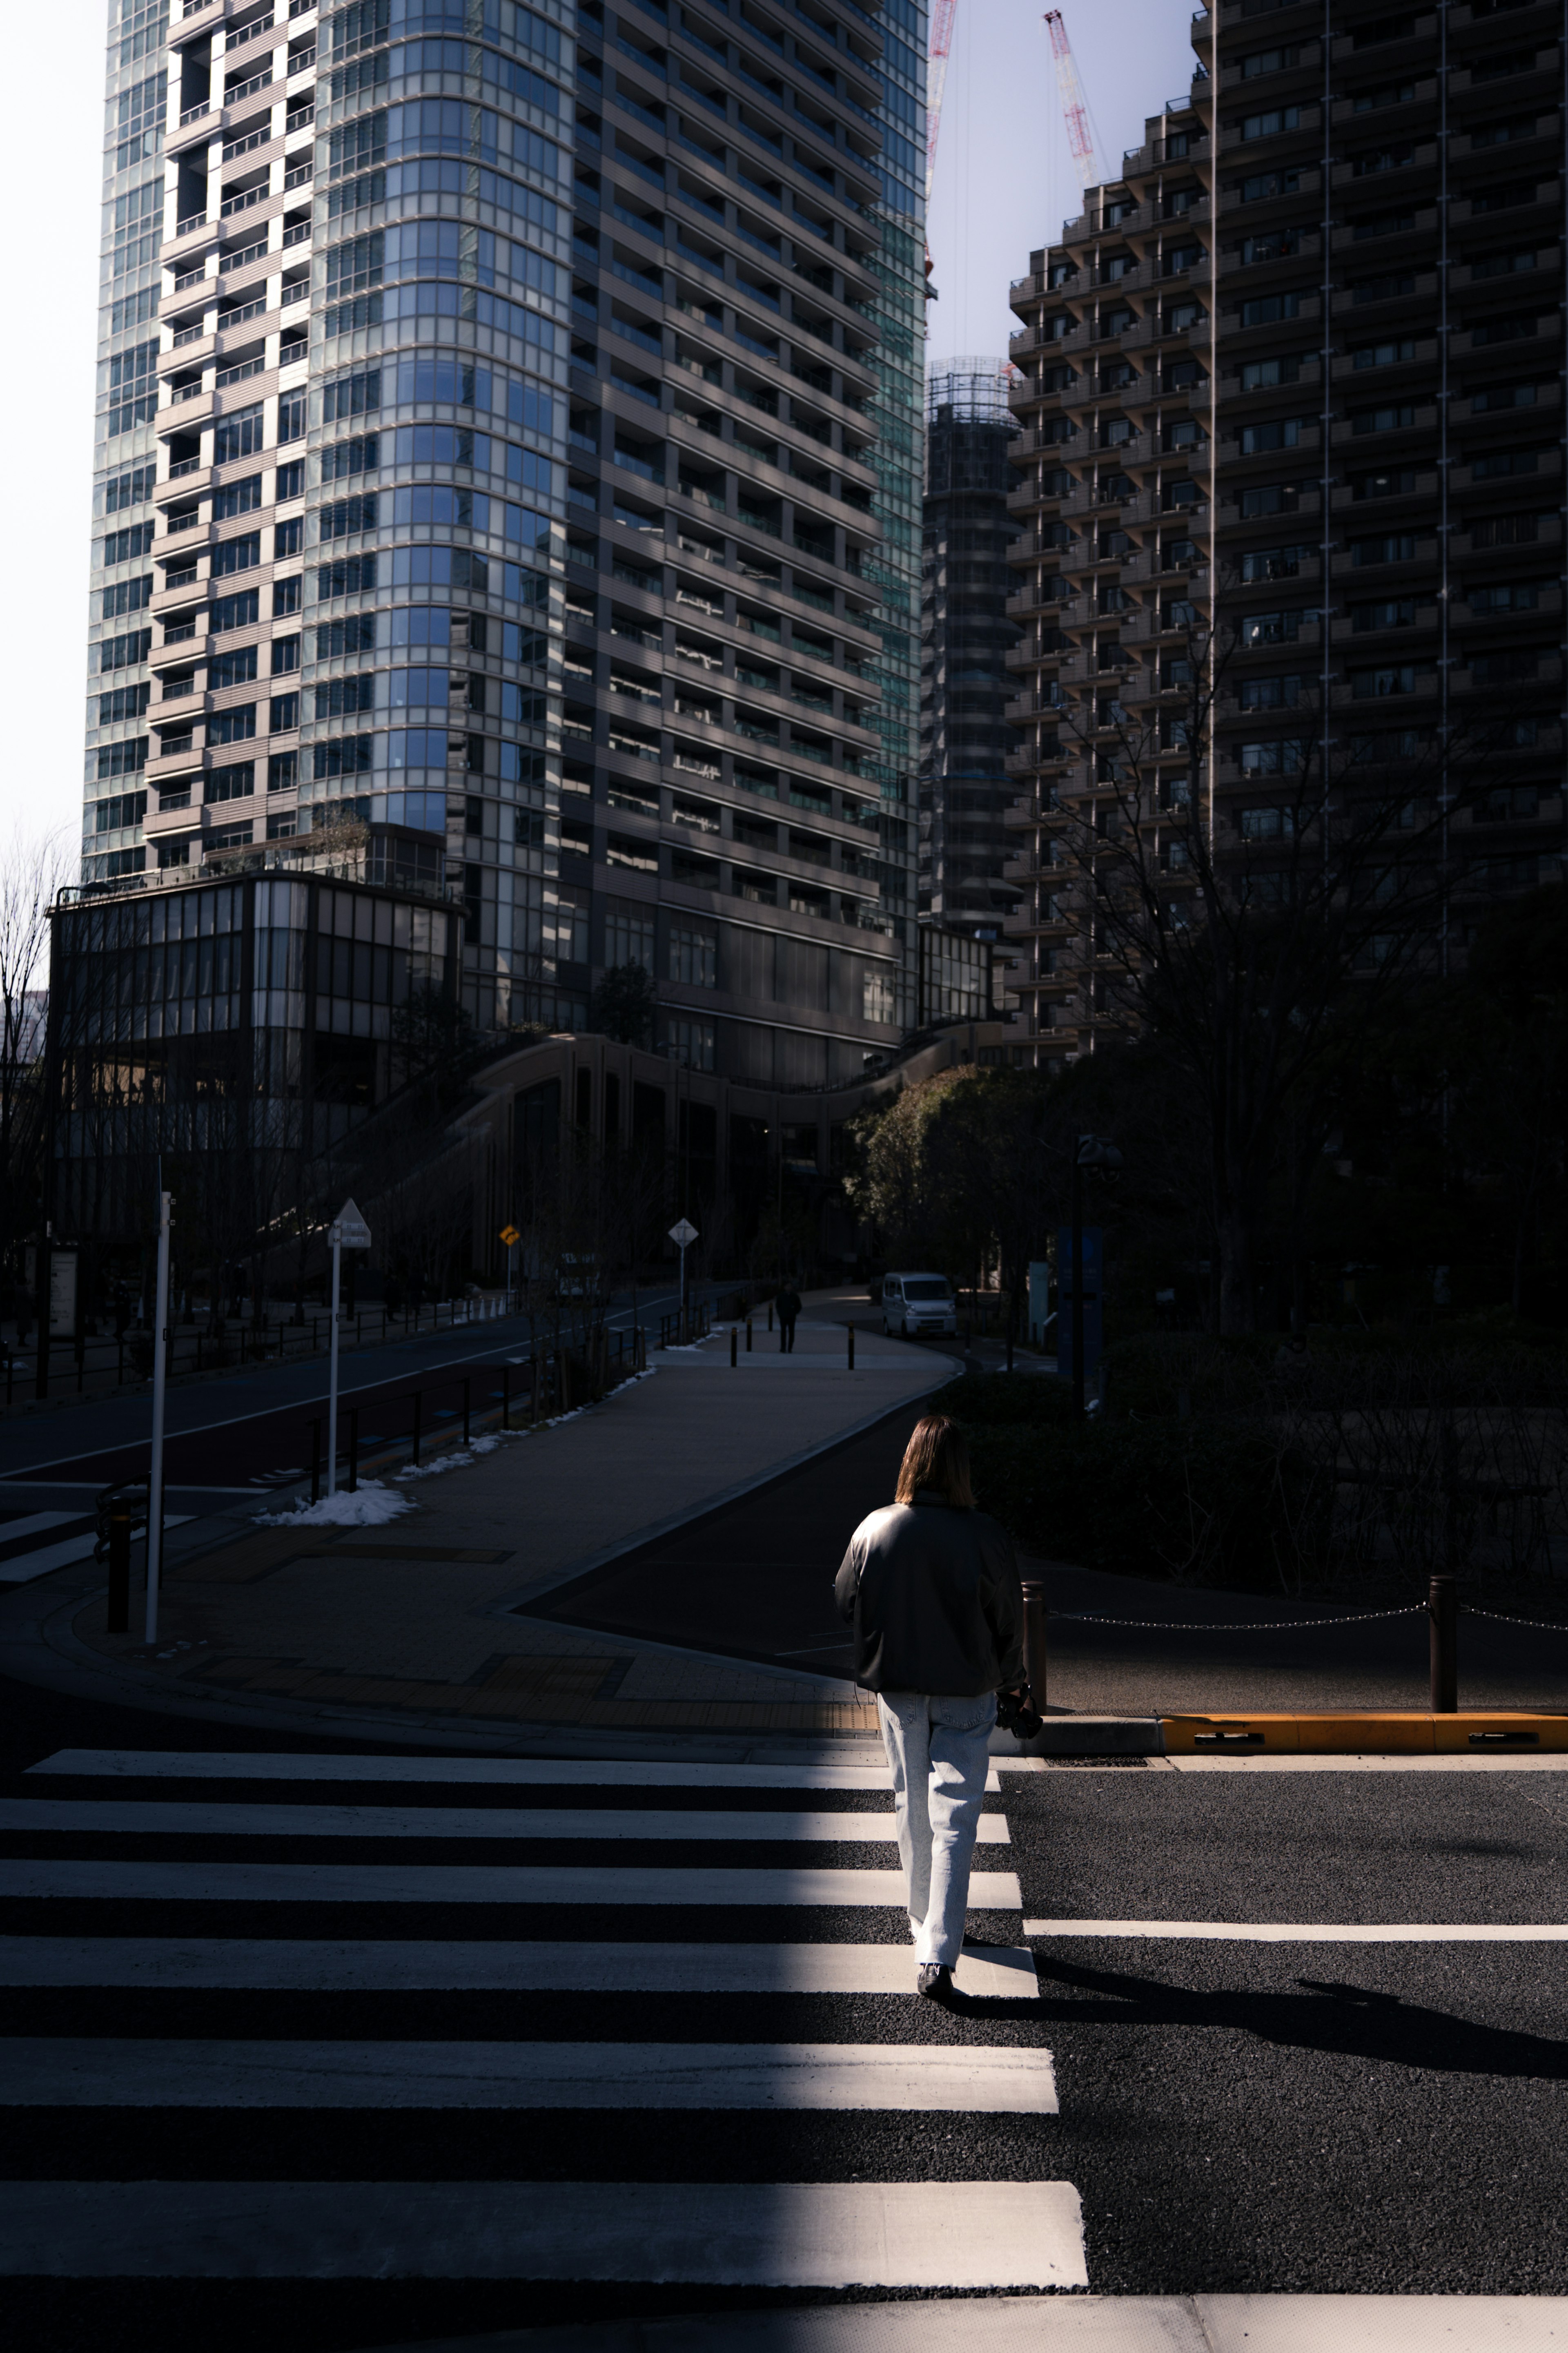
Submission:
<svg viewBox="0 0 1568 2353">
<path fill-rule="evenodd" d="M 1053 856 L 1128 727 L 1220 854 L 1288 828 L 1307 760 L 1408 774 L 1446 953 L 1563 871 L 1561 16 L 1225 0 L 1192 38 L 1192 89 L 1013 287 L 1039 1061 L 1124 1019 Z"/>
</svg>

